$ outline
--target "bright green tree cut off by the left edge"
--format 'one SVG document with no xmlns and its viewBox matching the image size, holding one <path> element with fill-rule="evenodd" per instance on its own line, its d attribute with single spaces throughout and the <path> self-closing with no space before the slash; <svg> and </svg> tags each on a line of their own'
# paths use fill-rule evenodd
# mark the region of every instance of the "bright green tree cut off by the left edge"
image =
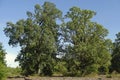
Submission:
<svg viewBox="0 0 120 80">
<path fill-rule="evenodd" d="M 6 63 L 5 63 L 6 52 L 3 49 L 2 43 L 0 43 L 0 80 L 6 78 Z"/>
</svg>

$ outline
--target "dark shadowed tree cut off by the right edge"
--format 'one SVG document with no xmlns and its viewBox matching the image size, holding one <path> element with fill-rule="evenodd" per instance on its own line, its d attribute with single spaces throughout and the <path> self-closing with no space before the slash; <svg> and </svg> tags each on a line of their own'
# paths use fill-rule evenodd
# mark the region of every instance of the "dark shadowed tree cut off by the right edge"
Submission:
<svg viewBox="0 0 120 80">
<path fill-rule="evenodd" d="M 120 73 L 120 32 L 116 34 L 116 39 L 114 42 L 114 48 L 112 53 L 111 68 L 112 71 L 117 71 Z"/>
</svg>

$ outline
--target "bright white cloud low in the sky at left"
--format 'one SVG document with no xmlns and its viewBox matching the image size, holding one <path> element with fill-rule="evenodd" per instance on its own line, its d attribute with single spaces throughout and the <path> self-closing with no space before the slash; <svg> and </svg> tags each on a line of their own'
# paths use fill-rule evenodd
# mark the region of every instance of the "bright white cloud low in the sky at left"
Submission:
<svg viewBox="0 0 120 80">
<path fill-rule="evenodd" d="M 18 62 L 15 62 L 16 56 L 17 55 L 11 54 L 11 53 L 6 54 L 7 66 L 9 66 L 9 67 L 17 67 L 18 66 Z"/>
</svg>

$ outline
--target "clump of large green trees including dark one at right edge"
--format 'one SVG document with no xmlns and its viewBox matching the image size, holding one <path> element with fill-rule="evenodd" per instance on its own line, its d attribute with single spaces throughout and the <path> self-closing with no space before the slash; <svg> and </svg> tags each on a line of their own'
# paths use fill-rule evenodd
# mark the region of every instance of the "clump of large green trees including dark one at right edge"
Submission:
<svg viewBox="0 0 120 80">
<path fill-rule="evenodd" d="M 9 45 L 21 47 L 15 61 L 19 61 L 24 75 L 108 73 L 111 59 L 114 64 L 119 60 L 120 36 L 113 51 L 113 43 L 106 38 L 108 30 L 91 21 L 95 14 L 72 7 L 62 16 L 53 3 L 45 2 L 35 5 L 33 13 L 27 12 L 27 19 L 8 22 L 4 32 Z M 111 70 L 119 65 L 112 65 Z"/>
</svg>

